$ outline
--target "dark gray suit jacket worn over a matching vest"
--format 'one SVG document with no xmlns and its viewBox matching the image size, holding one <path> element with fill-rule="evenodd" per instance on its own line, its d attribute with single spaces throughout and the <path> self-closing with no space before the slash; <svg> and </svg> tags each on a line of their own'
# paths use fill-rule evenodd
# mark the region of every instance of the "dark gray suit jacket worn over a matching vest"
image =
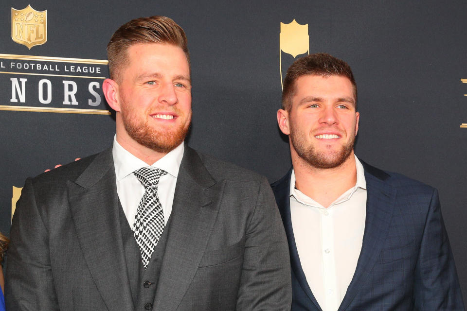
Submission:
<svg viewBox="0 0 467 311">
<path fill-rule="evenodd" d="M 28 178 L 6 268 L 11 311 L 131 311 L 111 149 Z M 289 310 L 287 240 L 265 177 L 189 147 L 155 310 Z"/>
</svg>

